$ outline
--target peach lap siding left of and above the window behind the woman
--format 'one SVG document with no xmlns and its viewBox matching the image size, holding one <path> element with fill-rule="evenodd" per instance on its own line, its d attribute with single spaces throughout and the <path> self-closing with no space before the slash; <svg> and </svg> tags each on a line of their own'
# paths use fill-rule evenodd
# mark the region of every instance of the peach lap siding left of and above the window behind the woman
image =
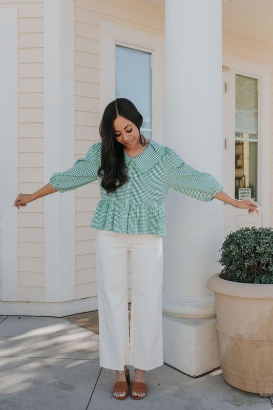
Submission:
<svg viewBox="0 0 273 410">
<path fill-rule="evenodd" d="M 99 136 L 99 19 L 162 35 L 164 8 L 143 0 L 75 0 L 75 157 Z M 76 298 L 97 295 L 95 230 L 98 181 L 76 190 Z"/>
</svg>

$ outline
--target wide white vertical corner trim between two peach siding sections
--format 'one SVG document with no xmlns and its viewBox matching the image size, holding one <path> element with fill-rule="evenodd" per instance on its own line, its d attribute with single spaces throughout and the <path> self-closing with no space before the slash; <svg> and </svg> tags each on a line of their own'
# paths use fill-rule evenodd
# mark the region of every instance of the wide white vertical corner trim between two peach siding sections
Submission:
<svg viewBox="0 0 273 410">
<path fill-rule="evenodd" d="M 44 2 L 45 184 L 75 160 L 74 0 Z M 45 203 L 45 302 L 74 300 L 75 191 Z"/>
</svg>

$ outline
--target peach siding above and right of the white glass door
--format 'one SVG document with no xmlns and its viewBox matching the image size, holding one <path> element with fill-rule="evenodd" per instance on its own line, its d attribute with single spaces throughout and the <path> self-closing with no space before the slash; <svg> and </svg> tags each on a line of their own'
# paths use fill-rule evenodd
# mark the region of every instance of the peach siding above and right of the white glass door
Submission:
<svg viewBox="0 0 273 410">
<path fill-rule="evenodd" d="M 223 53 L 233 55 L 255 63 L 270 66 L 273 72 L 272 43 L 262 42 L 259 39 L 223 30 Z M 273 227 L 273 76 L 270 76 L 270 206 L 269 226 Z"/>
</svg>

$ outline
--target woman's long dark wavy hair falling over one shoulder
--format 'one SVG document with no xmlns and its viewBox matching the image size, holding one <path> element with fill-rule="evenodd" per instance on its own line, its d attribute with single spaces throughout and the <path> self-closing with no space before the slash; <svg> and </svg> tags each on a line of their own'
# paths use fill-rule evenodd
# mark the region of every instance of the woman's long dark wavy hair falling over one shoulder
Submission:
<svg viewBox="0 0 273 410">
<path fill-rule="evenodd" d="M 142 115 L 129 99 L 116 98 L 104 110 L 99 125 L 101 166 L 98 169 L 98 174 L 102 176 L 101 187 L 108 194 L 129 181 L 126 173 L 124 149 L 122 144 L 115 139 L 114 135 L 113 123 L 118 115 L 128 118 L 135 124 L 139 131 L 139 142 L 143 147 L 145 145 L 145 138 L 140 134 L 143 122 Z"/>
</svg>

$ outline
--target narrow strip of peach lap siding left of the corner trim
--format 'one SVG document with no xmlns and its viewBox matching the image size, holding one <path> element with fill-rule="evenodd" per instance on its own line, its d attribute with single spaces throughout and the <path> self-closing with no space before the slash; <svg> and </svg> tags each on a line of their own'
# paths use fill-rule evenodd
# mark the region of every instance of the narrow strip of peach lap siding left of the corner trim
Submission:
<svg viewBox="0 0 273 410">
<path fill-rule="evenodd" d="M 0 1 L 0 12 L 2 7 L 17 8 L 18 193 L 31 193 L 44 185 L 43 2 Z M 40 198 L 15 211 L 17 300 L 44 301 L 44 200 Z"/>
</svg>

